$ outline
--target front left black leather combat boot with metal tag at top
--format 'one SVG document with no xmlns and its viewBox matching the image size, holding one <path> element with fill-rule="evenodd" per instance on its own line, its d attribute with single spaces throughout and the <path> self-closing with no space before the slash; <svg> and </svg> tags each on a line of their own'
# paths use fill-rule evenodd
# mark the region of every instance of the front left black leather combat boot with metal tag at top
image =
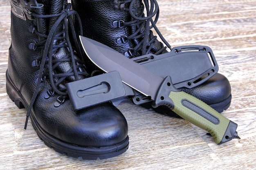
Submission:
<svg viewBox="0 0 256 170">
<path fill-rule="evenodd" d="M 89 77 L 86 63 L 78 57 L 81 49 L 71 22 L 77 13 L 71 4 L 65 0 L 10 2 L 7 93 L 18 108 L 27 109 L 27 119 L 38 136 L 71 157 L 106 159 L 125 152 L 128 126 L 121 112 L 109 102 L 75 112 L 67 94 L 66 83 Z"/>
</svg>

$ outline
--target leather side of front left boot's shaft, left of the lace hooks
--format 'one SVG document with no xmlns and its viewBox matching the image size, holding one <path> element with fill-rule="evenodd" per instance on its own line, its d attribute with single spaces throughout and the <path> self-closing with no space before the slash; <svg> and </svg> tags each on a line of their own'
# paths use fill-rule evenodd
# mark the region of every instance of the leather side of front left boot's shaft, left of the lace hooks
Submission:
<svg viewBox="0 0 256 170">
<path fill-rule="evenodd" d="M 26 75 L 31 75 L 38 69 L 31 67 L 31 64 L 42 55 L 41 49 L 35 49 L 35 44 L 40 40 L 34 31 L 36 29 L 43 34 L 47 31 L 45 20 L 36 20 L 30 13 L 44 15 L 45 10 L 43 4 L 31 8 L 30 4 L 25 4 L 25 1 L 15 3 L 11 0 L 10 3 L 12 12 L 8 73 L 11 79 L 16 79 L 16 86 L 20 87 L 23 79 L 29 79 Z"/>
</svg>

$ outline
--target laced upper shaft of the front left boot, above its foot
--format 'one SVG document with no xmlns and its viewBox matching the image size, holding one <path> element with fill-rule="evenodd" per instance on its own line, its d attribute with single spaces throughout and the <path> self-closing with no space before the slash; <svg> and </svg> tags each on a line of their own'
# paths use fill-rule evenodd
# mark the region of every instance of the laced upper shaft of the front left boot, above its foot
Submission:
<svg viewBox="0 0 256 170">
<path fill-rule="evenodd" d="M 74 55 L 73 47 L 67 40 L 68 26 L 67 23 L 64 25 L 64 21 L 69 14 L 64 11 L 66 2 L 65 0 L 11 1 L 8 74 L 11 80 L 15 80 L 13 83 L 16 88 L 25 95 L 27 103 L 30 103 L 38 79 L 45 77 L 49 79 L 52 76 L 54 80 L 51 84 L 55 84 L 56 88 L 64 89 L 63 94 L 67 95 L 67 92 L 64 92 L 65 83 L 83 79 L 84 75 L 87 75 L 84 65 Z M 60 20 L 61 17 L 64 19 Z M 44 64 L 42 64 L 43 58 L 45 58 Z M 54 62 L 51 66 L 48 64 L 49 58 Z M 52 71 L 49 71 L 49 67 Z M 40 70 L 43 70 L 41 73 L 43 77 L 38 78 Z M 65 79 L 56 77 L 57 74 L 64 74 Z M 49 80 L 47 81 L 49 84 Z"/>
</svg>

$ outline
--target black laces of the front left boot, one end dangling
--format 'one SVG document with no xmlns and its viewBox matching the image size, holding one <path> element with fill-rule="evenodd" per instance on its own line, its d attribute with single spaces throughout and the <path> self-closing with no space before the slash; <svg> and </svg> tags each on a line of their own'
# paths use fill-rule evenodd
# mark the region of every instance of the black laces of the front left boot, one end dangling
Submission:
<svg viewBox="0 0 256 170">
<path fill-rule="evenodd" d="M 77 60 L 74 56 L 74 51 L 70 42 L 69 38 L 69 30 L 71 29 L 70 33 L 72 33 L 72 40 L 74 42 L 74 46 L 77 47 L 77 53 L 79 56 L 82 56 L 81 48 L 79 48 L 79 42 L 77 40 L 77 35 L 74 27 L 74 23 L 72 21 L 72 16 L 76 17 L 76 21 L 78 22 L 77 25 L 79 25 L 79 31 L 82 35 L 82 24 L 81 20 L 79 18 L 79 15 L 76 13 L 76 11 L 71 10 L 71 4 L 67 4 L 66 9 L 61 11 L 61 13 L 58 14 L 52 14 L 52 15 L 38 15 L 36 13 L 31 13 L 31 15 L 35 18 L 52 18 L 55 17 L 57 20 L 53 24 L 52 28 L 49 31 L 48 35 L 43 35 L 35 30 L 35 33 L 45 39 L 41 42 L 35 44 L 35 48 L 44 48 L 43 56 L 38 59 L 40 61 L 40 69 L 39 69 L 39 75 L 38 80 L 36 84 L 36 89 L 34 92 L 34 95 L 31 99 L 31 103 L 29 105 L 29 108 L 27 110 L 27 118 L 25 122 L 25 129 L 27 128 L 28 118 L 31 113 L 31 109 L 34 105 L 34 102 L 36 100 L 36 97 L 39 92 L 40 83 L 42 82 L 42 77 L 49 77 L 49 83 L 52 88 L 52 91 L 54 91 L 55 94 L 58 94 L 60 96 L 67 96 L 67 90 L 65 86 L 59 87 L 60 84 L 63 83 L 63 81 L 70 76 L 74 76 L 75 80 L 79 80 L 79 75 L 83 75 L 85 77 L 88 77 L 88 73 L 81 70 L 80 68 L 85 68 L 85 63 L 81 60 Z M 61 31 L 59 30 L 61 25 L 61 28 L 63 28 Z M 54 41 L 58 41 L 58 43 L 54 43 Z M 65 57 L 62 57 L 61 59 L 53 59 L 54 52 L 57 51 L 59 48 L 65 47 L 69 51 L 69 54 Z M 37 63 L 39 63 L 37 61 Z M 65 71 L 65 73 L 56 73 L 54 72 L 54 69 L 59 66 L 63 62 L 69 62 L 72 68 L 68 71 Z"/>
</svg>

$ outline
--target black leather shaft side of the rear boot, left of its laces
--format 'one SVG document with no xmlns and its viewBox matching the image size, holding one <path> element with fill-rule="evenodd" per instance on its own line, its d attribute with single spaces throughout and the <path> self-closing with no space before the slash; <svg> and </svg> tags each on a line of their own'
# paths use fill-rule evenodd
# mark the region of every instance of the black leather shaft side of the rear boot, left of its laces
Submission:
<svg viewBox="0 0 256 170">
<path fill-rule="evenodd" d="M 74 10 L 79 13 L 83 23 L 83 36 L 97 40 L 115 50 L 124 53 L 132 46 L 127 43 L 117 43 L 117 40 L 129 33 L 123 22 L 130 20 L 127 12 L 113 9 L 112 0 L 72 0 Z M 114 23 L 114 25 L 113 25 Z"/>
</svg>

